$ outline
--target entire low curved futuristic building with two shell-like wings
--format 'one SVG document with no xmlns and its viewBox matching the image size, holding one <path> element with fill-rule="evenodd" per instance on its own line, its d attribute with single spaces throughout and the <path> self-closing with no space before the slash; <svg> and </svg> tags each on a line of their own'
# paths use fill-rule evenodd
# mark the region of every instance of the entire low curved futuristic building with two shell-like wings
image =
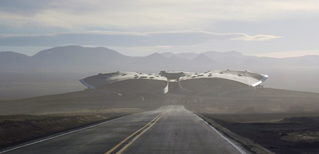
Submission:
<svg viewBox="0 0 319 154">
<path fill-rule="evenodd" d="M 251 89 L 268 78 L 267 75 L 249 71 L 207 71 L 204 73 L 165 72 L 143 74 L 134 72 L 100 73 L 81 78 L 80 82 L 100 93 L 209 93 L 228 95 Z"/>
</svg>

